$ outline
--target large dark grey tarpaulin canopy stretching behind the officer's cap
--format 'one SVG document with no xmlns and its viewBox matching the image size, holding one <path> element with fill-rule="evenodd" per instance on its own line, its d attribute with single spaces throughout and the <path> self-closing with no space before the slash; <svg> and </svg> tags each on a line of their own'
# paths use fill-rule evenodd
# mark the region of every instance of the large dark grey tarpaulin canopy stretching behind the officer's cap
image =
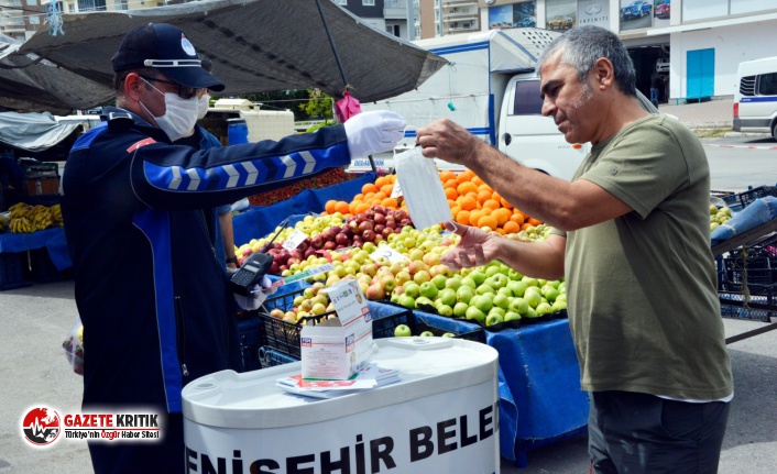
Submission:
<svg viewBox="0 0 777 474">
<path fill-rule="evenodd" d="M 2 87 L 0 106 L 13 100 L 76 109 L 106 104 L 112 96 L 111 56 L 129 30 L 150 22 L 180 27 L 214 62 L 214 74 L 227 85 L 219 96 L 319 88 L 341 97 L 346 77 L 351 95 L 370 102 L 415 89 L 446 64 L 329 0 L 206 0 L 62 18 L 64 35 L 41 30 L 18 51 L 0 53 L 0 68 L 22 66 L 48 96 Z M 73 80 L 74 75 L 81 79 Z"/>
</svg>

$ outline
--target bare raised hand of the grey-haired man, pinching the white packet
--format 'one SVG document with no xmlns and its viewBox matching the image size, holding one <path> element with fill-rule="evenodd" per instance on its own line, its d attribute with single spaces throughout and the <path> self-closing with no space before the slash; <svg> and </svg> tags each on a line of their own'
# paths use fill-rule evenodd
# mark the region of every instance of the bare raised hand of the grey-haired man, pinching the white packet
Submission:
<svg viewBox="0 0 777 474">
<path fill-rule="evenodd" d="M 416 132 L 416 143 L 427 158 L 440 158 L 470 167 L 480 146 L 488 146 L 463 126 L 449 119 L 430 122 Z"/>
</svg>

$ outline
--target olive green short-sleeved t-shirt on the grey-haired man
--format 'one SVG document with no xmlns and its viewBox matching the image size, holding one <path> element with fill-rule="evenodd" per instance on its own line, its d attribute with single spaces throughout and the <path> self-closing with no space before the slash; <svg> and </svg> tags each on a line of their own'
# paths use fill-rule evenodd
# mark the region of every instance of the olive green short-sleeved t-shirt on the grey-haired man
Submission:
<svg viewBox="0 0 777 474">
<path fill-rule="evenodd" d="M 715 400 L 733 392 L 710 251 L 710 170 L 666 115 L 598 143 L 574 179 L 633 211 L 567 233 L 569 315 L 584 390 Z"/>
</svg>

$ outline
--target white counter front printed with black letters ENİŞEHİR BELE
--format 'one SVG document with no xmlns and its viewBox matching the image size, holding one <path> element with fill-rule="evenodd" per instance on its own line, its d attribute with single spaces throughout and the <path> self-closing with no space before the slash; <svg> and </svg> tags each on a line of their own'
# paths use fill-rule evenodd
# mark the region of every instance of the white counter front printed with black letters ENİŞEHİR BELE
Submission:
<svg viewBox="0 0 777 474">
<path fill-rule="evenodd" d="M 493 382 L 358 412 L 361 396 L 369 395 L 352 397 L 353 415 L 309 423 L 289 418 L 288 427 L 275 429 L 216 428 L 185 419 L 186 473 L 497 472 Z"/>
</svg>

